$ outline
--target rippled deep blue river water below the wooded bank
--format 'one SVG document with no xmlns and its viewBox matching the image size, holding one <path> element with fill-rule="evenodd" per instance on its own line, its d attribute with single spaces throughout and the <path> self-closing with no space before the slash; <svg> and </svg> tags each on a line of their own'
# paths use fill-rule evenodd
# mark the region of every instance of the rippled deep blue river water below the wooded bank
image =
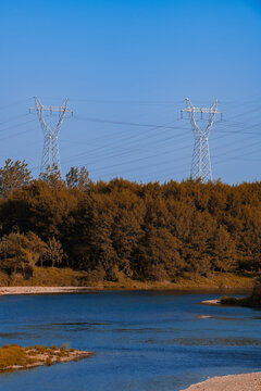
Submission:
<svg viewBox="0 0 261 391">
<path fill-rule="evenodd" d="M 0 390 L 177 391 L 210 376 L 261 370 L 261 312 L 199 304 L 215 298 L 159 291 L 1 297 L 0 345 L 66 342 L 96 355 L 1 374 Z"/>
</svg>

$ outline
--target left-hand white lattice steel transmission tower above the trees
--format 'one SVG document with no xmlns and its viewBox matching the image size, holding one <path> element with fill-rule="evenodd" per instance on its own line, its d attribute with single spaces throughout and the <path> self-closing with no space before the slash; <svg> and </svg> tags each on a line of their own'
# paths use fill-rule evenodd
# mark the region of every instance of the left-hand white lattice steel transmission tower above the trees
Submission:
<svg viewBox="0 0 261 391">
<path fill-rule="evenodd" d="M 58 136 L 64 119 L 64 115 L 66 113 L 71 113 L 73 115 L 73 112 L 67 109 L 67 99 L 65 99 L 60 106 L 47 106 L 42 105 L 39 99 L 35 97 L 35 108 L 29 108 L 29 112 L 32 111 L 37 112 L 45 135 L 40 172 L 51 172 L 53 168 L 57 168 L 61 173 Z M 54 127 L 51 128 L 47 125 L 44 118 L 45 112 L 49 112 L 50 114 L 54 112 L 59 113 L 58 122 Z"/>
</svg>

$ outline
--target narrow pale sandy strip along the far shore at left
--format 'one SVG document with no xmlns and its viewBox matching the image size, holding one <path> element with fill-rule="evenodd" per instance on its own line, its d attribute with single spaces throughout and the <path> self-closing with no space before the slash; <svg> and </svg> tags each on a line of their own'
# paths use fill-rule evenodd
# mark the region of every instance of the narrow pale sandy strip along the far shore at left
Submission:
<svg viewBox="0 0 261 391">
<path fill-rule="evenodd" d="M 84 293 L 97 290 L 94 287 L 0 287 L 3 294 L 55 294 L 55 293 Z M 102 289 L 102 288 L 99 288 Z"/>
</svg>

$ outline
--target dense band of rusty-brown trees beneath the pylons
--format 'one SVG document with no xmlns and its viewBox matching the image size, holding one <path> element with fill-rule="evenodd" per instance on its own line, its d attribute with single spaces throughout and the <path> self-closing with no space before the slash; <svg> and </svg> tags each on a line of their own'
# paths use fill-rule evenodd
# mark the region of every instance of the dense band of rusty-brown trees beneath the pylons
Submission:
<svg viewBox="0 0 261 391">
<path fill-rule="evenodd" d="M 24 162 L 0 168 L 0 268 L 35 265 L 94 279 L 175 280 L 186 272 L 261 269 L 261 182 L 92 182 L 86 168 L 33 179 Z"/>
</svg>

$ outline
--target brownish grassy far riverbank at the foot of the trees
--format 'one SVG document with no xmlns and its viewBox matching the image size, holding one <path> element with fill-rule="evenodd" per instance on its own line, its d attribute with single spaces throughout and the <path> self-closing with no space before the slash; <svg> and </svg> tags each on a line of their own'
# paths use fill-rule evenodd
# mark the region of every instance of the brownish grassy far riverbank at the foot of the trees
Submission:
<svg viewBox="0 0 261 391">
<path fill-rule="evenodd" d="M 0 287 L 7 288 L 62 288 L 57 292 L 83 290 L 83 289 L 109 289 L 109 290 L 246 290 L 252 289 L 254 274 L 244 273 L 212 273 L 208 277 L 195 276 L 186 273 L 177 277 L 175 281 L 139 281 L 120 276 L 117 281 L 94 281 L 90 275 L 84 270 L 70 268 L 35 267 L 33 277 L 23 278 L 21 275 L 8 276 L 0 273 Z M 29 293 L 29 292 L 28 292 Z M 39 291 L 39 293 L 41 293 Z M 49 292 L 47 292 L 49 293 Z M 52 293 L 52 292 L 50 292 Z M 15 293 L 14 293 L 15 294 Z M 16 293 L 18 294 L 18 293 Z"/>
</svg>

